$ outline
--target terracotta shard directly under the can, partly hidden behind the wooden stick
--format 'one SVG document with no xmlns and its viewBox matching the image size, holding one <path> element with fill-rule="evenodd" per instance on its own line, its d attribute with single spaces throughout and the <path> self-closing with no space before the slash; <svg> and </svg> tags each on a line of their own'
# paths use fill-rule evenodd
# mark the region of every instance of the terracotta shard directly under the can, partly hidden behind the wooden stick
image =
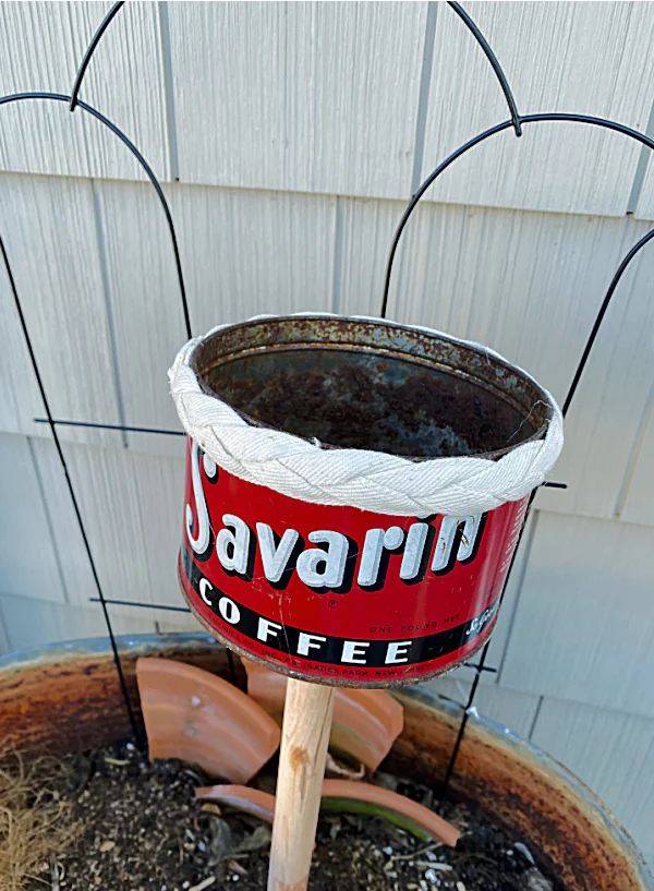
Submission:
<svg viewBox="0 0 654 891">
<path fill-rule="evenodd" d="M 243 659 L 247 694 L 281 724 L 287 677 Z M 403 709 L 385 690 L 341 687 L 334 696 L 334 722 L 329 748 L 348 760 L 375 771 L 404 723 Z"/>
</svg>

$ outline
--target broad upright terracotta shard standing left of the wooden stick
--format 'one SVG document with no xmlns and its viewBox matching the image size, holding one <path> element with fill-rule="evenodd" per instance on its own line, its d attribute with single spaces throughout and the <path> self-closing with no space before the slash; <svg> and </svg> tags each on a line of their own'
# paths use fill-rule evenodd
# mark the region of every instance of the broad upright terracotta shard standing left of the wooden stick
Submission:
<svg viewBox="0 0 654 891">
<path fill-rule="evenodd" d="M 150 758 L 179 758 L 210 776 L 247 783 L 279 748 L 280 731 L 244 693 L 169 659 L 138 659 Z"/>
</svg>

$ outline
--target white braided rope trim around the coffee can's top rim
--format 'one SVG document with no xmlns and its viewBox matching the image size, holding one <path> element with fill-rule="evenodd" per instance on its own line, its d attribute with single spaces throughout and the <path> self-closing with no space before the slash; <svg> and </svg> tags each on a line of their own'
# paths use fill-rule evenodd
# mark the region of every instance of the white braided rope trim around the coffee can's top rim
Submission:
<svg viewBox="0 0 654 891">
<path fill-rule="evenodd" d="M 220 325 L 206 337 L 229 327 L 233 325 Z M 457 340 L 431 328 L 419 329 L 507 361 L 477 344 Z M 252 426 L 227 402 L 204 393 L 189 366 L 193 350 L 204 339 L 190 340 L 168 372 L 184 430 L 228 472 L 303 502 L 405 517 L 480 514 L 505 502 L 519 501 L 540 485 L 564 445 L 562 416 L 547 393 L 554 416 L 545 438 L 517 446 L 498 460 L 458 457 L 410 461 L 370 449 L 324 449 L 318 443 L 291 433 Z"/>
</svg>

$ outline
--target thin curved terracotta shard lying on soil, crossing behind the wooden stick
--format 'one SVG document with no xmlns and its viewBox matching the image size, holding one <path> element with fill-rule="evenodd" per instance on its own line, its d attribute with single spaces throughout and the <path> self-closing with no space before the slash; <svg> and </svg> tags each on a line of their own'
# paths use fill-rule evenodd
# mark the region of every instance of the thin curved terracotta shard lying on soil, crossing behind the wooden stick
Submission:
<svg viewBox="0 0 654 891">
<path fill-rule="evenodd" d="M 272 822 L 275 816 L 275 796 L 258 788 L 239 785 L 204 786 L 195 790 L 195 797 L 229 805 L 268 822 Z M 450 847 L 456 846 L 460 835 L 455 826 L 417 802 L 371 783 L 325 780 L 320 809 L 382 817 L 421 841 L 437 841 Z"/>
</svg>

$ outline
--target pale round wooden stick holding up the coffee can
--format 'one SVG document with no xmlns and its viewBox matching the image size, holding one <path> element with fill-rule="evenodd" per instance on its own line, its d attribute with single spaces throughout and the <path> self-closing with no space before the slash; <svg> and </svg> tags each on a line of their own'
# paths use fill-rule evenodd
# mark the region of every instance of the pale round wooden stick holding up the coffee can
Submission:
<svg viewBox="0 0 654 891">
<path fill-rule="evenodd" d="M 289 678 L 268 891 L 305 891 L 331 730 L 334 687 Z"/>
</svg>

